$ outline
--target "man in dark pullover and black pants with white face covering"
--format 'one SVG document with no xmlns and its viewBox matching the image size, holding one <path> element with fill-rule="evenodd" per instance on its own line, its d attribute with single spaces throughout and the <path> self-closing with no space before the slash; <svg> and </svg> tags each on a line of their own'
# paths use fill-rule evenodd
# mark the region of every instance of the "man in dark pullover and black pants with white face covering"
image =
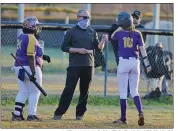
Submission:
<svg viewBox="0 0 178 131">
<path fill-rule="evenodd" d="M 96 31 L 89 27 L 90 16 L 87 10 L 79 10 L 77 19 L 76 26 L 67 31 L 61 46 L 62 51 L 69 53 L 69 66 L 65 88 L 54 113 L 54 120 L 60 120 L 67 111 L 79 79 L 80 96 L 76 107 L 76 119 L 82 119 L 87 110 L 88 89 L 94 74 L 93 53 L 94 50 L 101 51 L 108 40 L 108 35 L 103 34 L 99 42 Z"/>
</svg>

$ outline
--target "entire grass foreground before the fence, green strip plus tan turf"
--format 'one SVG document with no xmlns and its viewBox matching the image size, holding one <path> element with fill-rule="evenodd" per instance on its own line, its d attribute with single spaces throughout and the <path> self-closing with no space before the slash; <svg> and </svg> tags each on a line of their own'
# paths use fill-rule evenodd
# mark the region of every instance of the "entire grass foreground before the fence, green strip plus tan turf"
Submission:
<svg viewBox="0 0 178 131">
<path fill-rule="evenodd" d="M 11 112 L 14 109 L 14 97 L 1 100 L 2 128 L 140 128 L 137 125 L 138 113 L 133 99 L 128 99 L 129 125 L 112 124 L 120 116 L 119 97 L 93 96 L 88 99 L 87 112 L 82 121 L 75 120 L 75 106 L 78 96 L 74 96 L 71 106 L 62 120 L 52 120 L 53 113 L 58 105 L 58 96 L 41 96 L 38 106 L 40 122 L 12 122 Z M 142 100 L 145 126 L 141 128 L 173 128 L 173 98 L 161 97 L 160 99 Z M 24 108 L 27 117 L 27 106 Z"/>
</svg>

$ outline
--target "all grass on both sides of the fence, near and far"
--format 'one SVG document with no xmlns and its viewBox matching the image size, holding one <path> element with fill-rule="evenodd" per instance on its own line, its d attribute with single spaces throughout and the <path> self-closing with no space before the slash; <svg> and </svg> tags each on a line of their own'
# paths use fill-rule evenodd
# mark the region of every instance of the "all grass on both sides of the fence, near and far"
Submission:
<svg viewBox="0 0 178 131">
<path fill-rule="evenodd" d="M 82 121 L 75 120 L 75 105 L 78 100 L 79 88 L 77 86 L 74 99 L 61 121 L 52 120 L 54 110 L 58 104 L 58 95 L 63 91 L 66 77 L 66 66 L 68 58 L 62 58 L 60 49 L 45 49 L 46 54 L 52 58 L 52 63 L 45 63 L 43 75 L 43 87 L 49 95 L 47 98 L 40 97 L 38 116 L 41 122 L 11 122 L 11 112 L 14 108 L 14 97 L 18 91 L 14 72 L 10 70 L 13 59 L 10 53 L 14 52 L 12 47 L 3 47 L 1 52 L 2 87 L 1 87 L 1 110 L 2 128 L 140 128 L 137 125 L 137 111 L 132 99 L 129 99 L 128 121 L 129 125 L 115 125 L 112 121 L 120 114 L 119 96 L 117 89 L 117 79 L 115 73 L 108 73 L 107 96 L 104 95 L 104 72 L 96 70 L 90 95 L 88 100 L 88 111 Z M 114 55 L 108 54 L 109 68 L 116 68 Z M 139 92 L 141 96 L 147 92 L 146 82 L 141 80 Z M 173 93 L 173 85 L 169 91 Z M 145 111 L 145 126 L 141 128 L 173 128 L 173 98 L 163 98 L 160 100 L 143 100 Z M 25 117 L 27 116 L 27 106 L 25 107 Z"/>
</svg>

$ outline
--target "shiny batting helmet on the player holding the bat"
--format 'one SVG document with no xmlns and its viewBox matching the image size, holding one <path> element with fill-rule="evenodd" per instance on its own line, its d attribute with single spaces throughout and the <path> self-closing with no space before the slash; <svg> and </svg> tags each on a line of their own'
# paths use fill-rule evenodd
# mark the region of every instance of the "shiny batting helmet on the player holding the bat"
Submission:
<svg viewBox="0 0 178 131">
<path fill-rule="evenodd" d="M 23 28 L 28 28 L 30 30 L 41 31 L 38 19 L 35 16 L 28 16 L 23 21 Z"/>
</svg>

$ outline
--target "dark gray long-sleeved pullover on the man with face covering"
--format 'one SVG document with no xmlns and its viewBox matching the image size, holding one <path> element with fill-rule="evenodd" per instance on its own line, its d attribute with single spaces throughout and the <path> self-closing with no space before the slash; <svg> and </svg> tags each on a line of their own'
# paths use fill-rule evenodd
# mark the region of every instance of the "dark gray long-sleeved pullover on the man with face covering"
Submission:
<svg viewBox="0 0 178 131">
<path fill-rule="evenodd" d="M 98 35 L 95 30 L 90 27 L 81 29 L 76 25 L 67 31 L 64 42 L 61 45 L 61 50 L 69 52 L 69 49 L 72 47 L 101 51 L 98 48 L 98 44 Z M 69 66 L 94 66 L 94 54 L 70 53 Z"/>
</svg>

